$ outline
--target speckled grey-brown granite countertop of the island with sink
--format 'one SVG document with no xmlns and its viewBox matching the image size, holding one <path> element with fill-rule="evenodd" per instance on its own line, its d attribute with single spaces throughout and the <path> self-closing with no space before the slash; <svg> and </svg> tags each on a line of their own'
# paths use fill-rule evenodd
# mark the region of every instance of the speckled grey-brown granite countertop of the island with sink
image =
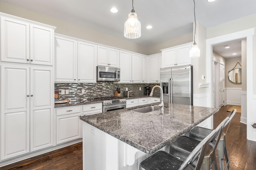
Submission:
<svg viewBox="0 0 256 170">
<path fill-rule="evenodd" d="M 153 105 L 84 115 L 80 119 L 146 154 L 152 154 L 219 110 L 168 103 L 164 104 L 164 113 L 161 110 L 148 113 L 132 110 Z"/>
</svg>

